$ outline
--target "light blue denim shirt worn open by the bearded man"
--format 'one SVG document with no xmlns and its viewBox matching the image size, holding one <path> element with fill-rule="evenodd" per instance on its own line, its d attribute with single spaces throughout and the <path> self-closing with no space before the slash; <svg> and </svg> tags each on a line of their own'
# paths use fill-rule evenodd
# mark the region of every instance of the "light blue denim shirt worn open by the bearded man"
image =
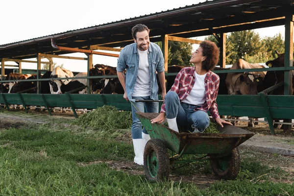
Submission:
<svg viewBox="0 0 294 196">
<path fill-rule="evenodd" d="M 151 42 L 148 48 L 148 63 L 151 82 L 150 98 L 154 100 L 158 99 L 158 85 L 155 71 L 157 71 L 157 73 L 164 72 L 164 58 L 159 46 Z M 120 56 L 118 58 L 117 71 L 123 72 L 125 69 L 126 95 L 130 101 L 135 101 L 135 99 L 132 99 L 132 92 L 136 84 L 137 74 L 139 70 L 139 55 L 136 43 L 127 45 L 122 49 L 120 53 Z"/>
</svg>

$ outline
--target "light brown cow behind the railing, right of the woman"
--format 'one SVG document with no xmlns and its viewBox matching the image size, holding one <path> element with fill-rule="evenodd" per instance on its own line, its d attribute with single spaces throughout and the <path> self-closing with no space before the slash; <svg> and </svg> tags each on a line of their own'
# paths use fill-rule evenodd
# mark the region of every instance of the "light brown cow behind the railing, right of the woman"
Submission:
<svg viewBox="0 0 294 196">
<path fill-rule="evenodd" d="M 258 63 L 250 64 L 243 59 L 238 59 L 231 70 L 239 69 L 262 69 L 264 66 Z M 254 78 L 264 78 L 267 72 L 249 72 L 249 73 L 228 73 L 225 78 L 228 95 L 257 95 L 257 86 Z M 257 80 L 256 80 L 257 81 Z M 251 119 L 249 117 L 249 119 Z M 235 124 L 236 122 L 232 122 Z M 248 122 L 249 127 L 253 127 L 252 122 Z"/>
</svg>

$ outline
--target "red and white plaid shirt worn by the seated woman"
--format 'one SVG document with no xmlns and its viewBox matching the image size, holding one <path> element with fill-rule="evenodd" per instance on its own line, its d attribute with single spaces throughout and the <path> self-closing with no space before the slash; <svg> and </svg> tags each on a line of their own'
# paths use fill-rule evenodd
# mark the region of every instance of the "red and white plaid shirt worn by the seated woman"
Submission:
<svg viewBox="0 0 294 196">
<path fill-rule="evenodd" d="M 179 96 L 180 101 L 182 101 L 184 98 L 186 98 L 189 93 L 192 90 L 192 86 L 195 84 L 195 67 L 186 67 L 183 68 L 177 75 L 174 80 L 174 83 L 172 85 L 172 88 L 170 91 L 176 92 L 176 94 Z M 210 111 L 212 118 L 220 118 L 219 111 L 218 111 L 218 105 L 216 102 L 218 91 L 219 91 L 219 85 L 220 85 L 220 77 L 211 71 L 208 71 L 205 78 L 205 98 L 206 101 L 201 105 L 201 107 L 196 108 L 196 110 L 203 110 L 207 112 Z M 161 106 L 161 111 L 165 112 L 165 102 L 163 102 Z"/>
</svg>

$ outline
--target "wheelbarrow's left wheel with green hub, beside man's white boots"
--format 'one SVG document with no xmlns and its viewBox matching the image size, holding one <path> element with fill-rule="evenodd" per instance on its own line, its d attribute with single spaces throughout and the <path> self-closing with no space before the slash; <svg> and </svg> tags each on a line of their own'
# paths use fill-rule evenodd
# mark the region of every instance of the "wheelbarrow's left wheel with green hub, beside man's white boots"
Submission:
<svg viewBox="0 0 294 196">
<path fill-rule="evenodd" d="M 150 182 L 167 180 L 170 175 L 170 158 L 167 147 L 160 139 L 151 139 L 144 150 L 145 176 Z"/>
</svg>

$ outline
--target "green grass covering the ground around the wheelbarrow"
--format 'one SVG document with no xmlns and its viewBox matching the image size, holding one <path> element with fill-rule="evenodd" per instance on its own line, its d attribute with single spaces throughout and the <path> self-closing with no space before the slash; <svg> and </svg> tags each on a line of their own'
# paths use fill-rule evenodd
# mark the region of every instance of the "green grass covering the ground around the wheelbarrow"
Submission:
<svg viewBox="0 0 294 196">
<path fill-rule="evenodd" d="M 73 119 L 67 119 L 65 126 L 63 120 L 47 117 L 47 124 L 26 123 L 0 130 L 0 195 L 294 195 L 293 173 L 283 169 L 294 164 L 292 157 L 240 150 L 241 171 L 236 180 L 216 180 L 205 161 L 172 171 L 173 180 L 149 183 L 142 174 L 118 171 L 107 164 L 133 161 L 132 145 L 117 140 L 117 135 L 129 129 L 82 127 L 73 125 Z M 173 176 L 202 176 L 213 183 L 201 186 Z"/>
</svg>

